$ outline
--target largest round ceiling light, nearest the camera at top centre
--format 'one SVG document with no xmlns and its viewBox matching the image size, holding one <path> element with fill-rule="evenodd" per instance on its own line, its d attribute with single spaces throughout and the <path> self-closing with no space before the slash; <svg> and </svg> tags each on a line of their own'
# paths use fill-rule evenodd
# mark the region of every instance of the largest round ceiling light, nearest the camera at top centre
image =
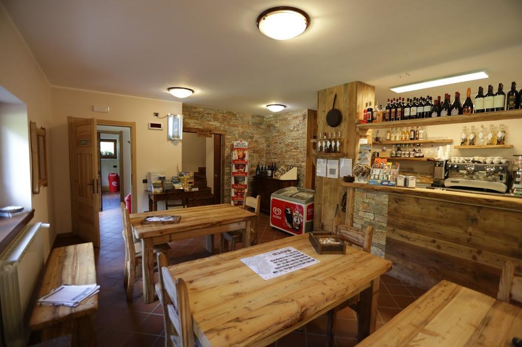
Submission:
<svg viewBox="0 0 522 347">
<path fill-rule="evenodd" d="M 275 40 L 290 40 L 310 25 L 310 17 L 299 8 L 273 7 L 257 17 L 259 31 Z"/>
</svg>

